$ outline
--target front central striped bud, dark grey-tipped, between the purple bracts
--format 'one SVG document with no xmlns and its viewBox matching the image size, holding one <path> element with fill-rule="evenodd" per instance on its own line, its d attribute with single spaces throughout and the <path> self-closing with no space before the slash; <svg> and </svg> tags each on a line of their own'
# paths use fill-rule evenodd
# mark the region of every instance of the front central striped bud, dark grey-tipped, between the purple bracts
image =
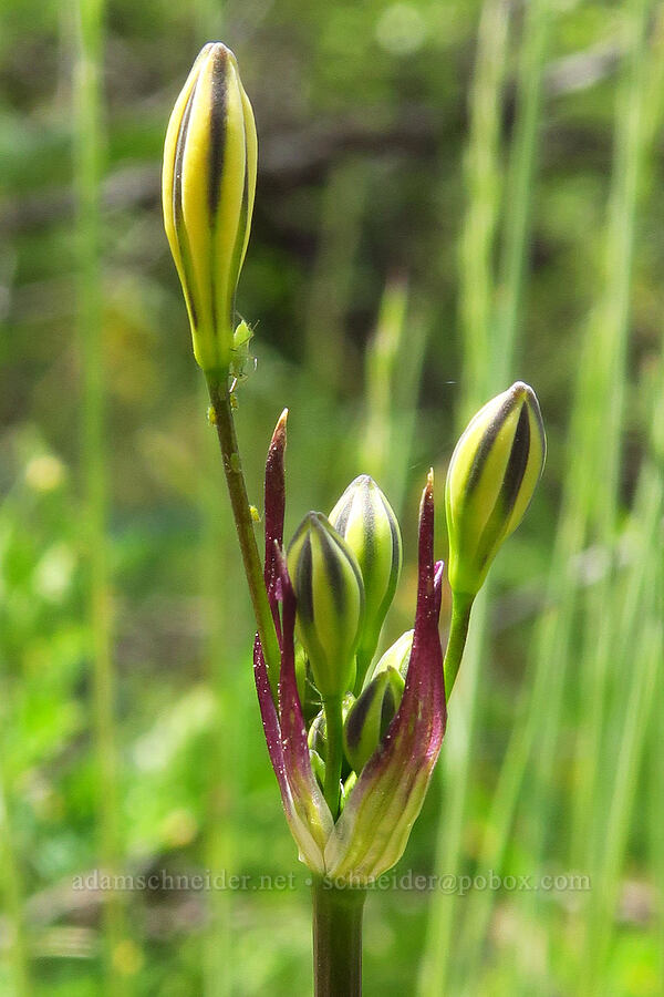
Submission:
<svg viewBox="0 0 664 997">
<path fill-rule="evenodd" d="M 295 633 L 323 699 L 343 696 L 355 678 L 364 588 L 355 555 L 322 513 L 311 512 L 288 549 L 297 598 Z"/>
</svg>

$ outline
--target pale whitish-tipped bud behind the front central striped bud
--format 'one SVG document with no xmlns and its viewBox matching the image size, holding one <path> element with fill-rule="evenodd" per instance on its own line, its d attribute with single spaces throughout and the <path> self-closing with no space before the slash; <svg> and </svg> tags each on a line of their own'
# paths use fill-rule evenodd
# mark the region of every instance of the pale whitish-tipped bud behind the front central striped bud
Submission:
<svg viewBox="0 0 664 997">
<path fill-rule="evenodd" d="M 353 551 L 364 582 L 364 625 L 357 648 L 360 689 L 396 590 L 403 557 L 401 531 L 392 506 L 369 474 L 351 482 L 330 513 L 330 522 Z"/>
</svg>

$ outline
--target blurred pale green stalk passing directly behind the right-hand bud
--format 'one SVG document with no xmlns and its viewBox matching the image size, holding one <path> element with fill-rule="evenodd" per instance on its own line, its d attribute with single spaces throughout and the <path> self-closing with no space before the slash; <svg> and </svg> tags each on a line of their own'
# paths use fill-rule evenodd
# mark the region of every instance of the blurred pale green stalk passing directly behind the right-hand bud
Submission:
<svg viewBox="0 0 664 997">
<path fill-rule="evenodd" d="M 470 101 L 470 142 L 465 163 L 468 205 L 459 256 L 459 311 L 464 348 L 464 392 L 457 411 L 460 426 L 465 424 L 469 414 L 490 397 L 498 377 L 502 377 L 502 372 L 511 367 L 513 332 L 509 343 L 506 345 L 501 337 L 508 323 L 502 322 L 497 329 L 494 328 L 492 314 L 496 292 L 492 260 L 501 195 L 499 136 L 508 40 L 509 4 L 502 0 L 485 0 L 479 23 Z M 529 148 L 532 151 L 532 145 Z M 511 202 L 519 197 L 521 192 L 513 181 L 513 169 L 510 176 Z M 522 215 L 520 220 L 526 217 L 527 214 Z M 511 241 L 506 234 L 504 255 L 508 253 L 507 243 L 513 247 L 515 237 L 518 235 L 525 238 L 525 225 L 518 228 L 512 226 Z M 517 244 L 517 248 L 519 247 L 520 244 Z M 515 276 L 515 268 L 504 266 L 502 274 L 507 275 L 505 280 L 511 279 Z M 517 276 L 518 286 L 509 291 L 509 302 L 513 306 L 510 312 L 513 319 L 512 330 L 516 323 L 515 302 L 520 290 L 520 268 Z M 491 357 L 490 343 L 494 340 L 495 353 L 500 357 L 499 370 L 496 368 L 495 358 Z M 500 383 L 498 387 L 502 390 L 505 384 Z M 455 697 L 454 722 L 449 724 L 443 752 L 444 764 L 440 767 L 444 795 L 438 820 L 436 868 L 443 875 L 457 874 L 463 861 L 464 825 L 474 771 L 475 727 L 480 710 L 483 656 L 487 638 L 486 589 L 477 599 L 474 617 L 475 626 L 466 651 L 461 688 Z M 454 628 L 453 623 L 450 630 Z M 456 634 L 459 636 L 463 634 L 458 613 Z M 460 659 L 456 645 L 457 636 L 453 636 L 450 631 L 445 665 L 448 696 L 458 670 L 458 660 L 455 659 Z M 459 914 L 457 897 L 445 896 L 442 893 L 432 897 L 425 953 L 418 979 L 418 994 L 422 997 L 429 995 L 439 997 L 452 989 L 450 978 L 457 959 L 453 938 L 458 932 Z"/>
</svg>

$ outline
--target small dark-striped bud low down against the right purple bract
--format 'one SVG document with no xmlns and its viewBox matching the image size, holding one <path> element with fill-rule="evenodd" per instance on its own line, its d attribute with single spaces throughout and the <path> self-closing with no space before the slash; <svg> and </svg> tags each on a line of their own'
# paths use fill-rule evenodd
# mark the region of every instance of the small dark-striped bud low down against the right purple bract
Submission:
<svg viewBox="0 0 664 997">
<path fill-rule="evenodd" d="M 343 747 L 355 772 L 361 772 L 392 723 L 404 693 L 394 668 L 380 671 L 355 700 L 345 719 Z"/>
</svg>

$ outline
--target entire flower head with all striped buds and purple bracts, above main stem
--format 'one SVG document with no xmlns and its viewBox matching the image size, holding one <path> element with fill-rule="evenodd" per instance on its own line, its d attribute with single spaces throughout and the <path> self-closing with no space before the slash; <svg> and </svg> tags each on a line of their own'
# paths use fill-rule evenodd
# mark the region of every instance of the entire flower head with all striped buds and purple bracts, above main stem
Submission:
<svg viewBox="0 0 664 997">
<path fill-rule="evenodd" d="M 255 675 L 286 816 L 312 871 L 363 885 L 406 846 L 440 750 L 446 691 L 459 668 L 473 599 L 532 497 L 544 432 L 535 392 L 517 382 L 475 415 L 454 451 L 445 490 L 453 608 L 445 659 L 438 635 L 444 571 L 434 558 L 429 473 L 419 506 L 414 628 L 375 662 L 403 559 L 396 516 L 378 485 L 362 475 L 329 516 L 309 513 L 284 552 L 284 412 L 266 465 L 268 606 L 228 388 L 229 378 L 235 383 L 240 376 L 251 336 L 246 322 L 235 332 L 234 325 L 256 169 L 256 126 L 236 59 L 221 43 L 208 44 L 168 125 L 166 233 L 214 404 L 224 391 L 225 408 L 214 414 L 225 420 L 219 439 L 266 654 L 274 635 L 279 645 L 280 660 L 268 669 L 256 637 Z M 274 633 L 264 626 L 270 613 Z M 267 656 L 277 658 L 276 643 Z"/>
</svg>

